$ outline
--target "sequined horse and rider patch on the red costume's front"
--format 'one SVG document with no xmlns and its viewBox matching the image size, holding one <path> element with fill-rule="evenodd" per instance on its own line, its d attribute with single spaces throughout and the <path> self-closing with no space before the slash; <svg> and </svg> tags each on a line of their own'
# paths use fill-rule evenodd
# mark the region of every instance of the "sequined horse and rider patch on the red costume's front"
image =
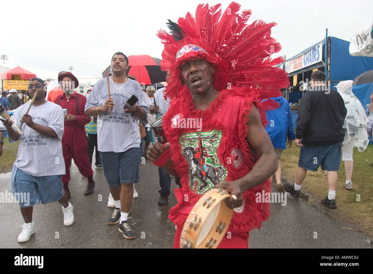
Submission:
<svg viewBox="0 0 373 274">
<path fill-rule="evenodd" d="M 217 148 L 222 141 L 220 130 L 185 133 L 179 138 L 182 155 L 189 163 L 189 187 L 203 195 L 227 177 L 220 164 Z"/>
</svg>

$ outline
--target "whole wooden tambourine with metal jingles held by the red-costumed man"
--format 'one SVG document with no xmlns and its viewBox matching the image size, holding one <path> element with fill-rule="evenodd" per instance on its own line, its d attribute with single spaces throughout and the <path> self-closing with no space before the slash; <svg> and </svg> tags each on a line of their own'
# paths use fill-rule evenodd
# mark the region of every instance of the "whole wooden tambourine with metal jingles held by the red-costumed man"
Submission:
<svg viewBox="0 0 373 274">
<path fill-rule="evenodd" d="M 184 223 L 180 248 L 217 248 L 232 220 L 225 198 L 231 195 L 225 189 L 211 189 L 194 205 Z"/>
</svg>

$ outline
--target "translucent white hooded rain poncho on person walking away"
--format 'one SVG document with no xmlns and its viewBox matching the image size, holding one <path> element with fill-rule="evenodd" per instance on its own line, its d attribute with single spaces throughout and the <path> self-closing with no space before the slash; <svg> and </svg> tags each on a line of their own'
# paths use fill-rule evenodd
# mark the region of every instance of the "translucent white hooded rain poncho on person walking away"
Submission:
<svg viewBox="0 0 373 274">
<path fill-rule="evenodd" d="M 336 86 L 337 91 L 341 94 L 347 115 L 343 130 L 346 132 L 342 146 L 350 142 L 357 147 L 360 152 L 363 152 L 369 143 L 367 133 L 368 118 L 360 101 L 352 93 L 352 81 L 342 81 Z"/>
</svg>

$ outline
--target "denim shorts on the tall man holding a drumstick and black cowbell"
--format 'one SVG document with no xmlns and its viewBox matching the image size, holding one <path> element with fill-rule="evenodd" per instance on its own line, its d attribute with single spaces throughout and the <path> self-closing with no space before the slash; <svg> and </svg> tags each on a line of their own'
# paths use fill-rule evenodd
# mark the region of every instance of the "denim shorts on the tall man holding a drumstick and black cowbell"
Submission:
<svg viewBox="0 0 373 274">
<path fill-rule="evenodd" d="M 129 148 L 124 152 L 101 152 L 102 170 L 110 188 L 120 184 L 134 183 L 139 168 L 140 148 Z"/>
</svg>

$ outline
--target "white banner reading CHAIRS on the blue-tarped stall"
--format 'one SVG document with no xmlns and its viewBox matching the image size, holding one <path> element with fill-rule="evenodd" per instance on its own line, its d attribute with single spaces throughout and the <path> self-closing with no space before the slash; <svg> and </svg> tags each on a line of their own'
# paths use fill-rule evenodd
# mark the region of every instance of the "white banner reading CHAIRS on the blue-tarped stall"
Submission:
<svg viewBox="0 0 373 274">
<path fill-rule="evenodd" d="M 314 46 L 307 52 L 301 54 L 294 59 L 286 61 L 286 72 L 291 73 L 295 70 L 302 69 L 304 67 L 310 66 L 312 64 L 316 64 L 321 62 L 323 57 L 323 43 Z"/>
</svg>

